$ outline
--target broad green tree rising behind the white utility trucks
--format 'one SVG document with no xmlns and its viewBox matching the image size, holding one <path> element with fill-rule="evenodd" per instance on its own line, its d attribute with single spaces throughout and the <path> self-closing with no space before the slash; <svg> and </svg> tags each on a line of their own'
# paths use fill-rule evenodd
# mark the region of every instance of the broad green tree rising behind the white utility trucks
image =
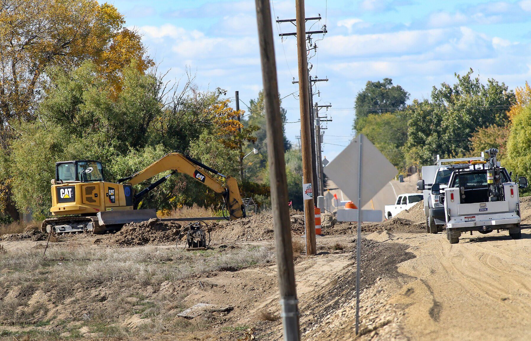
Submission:
<svg viewBox="0 0 531 341">
<path fill-rule="evenodd" d="M 414 101 L 408 108 L 409 162 L 431 163 L 435 154 L 468 155 L 478 129 L 508 124 L 515 94 L 504 83 L 489 79 L 485 85 L 472 74 L 472 69 L 464 76 L 456 74 L 456 84 L 433 87 L 431 102 Z"/>
</svg>

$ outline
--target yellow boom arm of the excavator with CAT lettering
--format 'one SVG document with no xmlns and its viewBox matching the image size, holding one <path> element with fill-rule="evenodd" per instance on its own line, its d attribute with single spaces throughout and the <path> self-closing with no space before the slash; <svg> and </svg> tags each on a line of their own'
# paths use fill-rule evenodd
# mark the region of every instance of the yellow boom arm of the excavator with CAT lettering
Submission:
<svg viewBox="0 0 531 341">
<path fill-rule="evenodd" d="M 225 185 L 221 181 L 217 180 L 209 173 L 205 172 L 207 170 L 217 176 L 225 178 Z M 235 178 L 224 176 L 215 169 L 208 167 L 207 165 L 202 164 L 199 161 L 196 161 L 189 156 L 185 156 L 180 153 L 172 152 L 168 153 L 159 160 L 153 162 L 148 167 L 144 168 L 141 171 L 134 173 L 133 175 L 119 179 L 118 182 L 127 181 L 131 185 L 137 185 L 138 183 L 155 177 L 157 174 L 162 172 L 173 170 L 174 172 L 188 174 L 196 181 L 202 182 L 205 186 L 211 188 L 216 193 L 223 195 L 225 200 L 225 206 L 229 212 L 229 218 L 231 220 L 245 217 L 245 210 L 242 202 L 242 197 L 239 193 L 238 183 Z M 172 173 L 173 174 L 173 173 Z M 161 182 L 164 182 L 171 174 L 165 178 L 161 178 L 157 181 L 157 185 Z M 163 180 L 164 179 L 164 180 Z M 155 184 L 154 184 L 155 185 Z M 143 193 L 144 194 L 144 193 Z"/>
</svg>

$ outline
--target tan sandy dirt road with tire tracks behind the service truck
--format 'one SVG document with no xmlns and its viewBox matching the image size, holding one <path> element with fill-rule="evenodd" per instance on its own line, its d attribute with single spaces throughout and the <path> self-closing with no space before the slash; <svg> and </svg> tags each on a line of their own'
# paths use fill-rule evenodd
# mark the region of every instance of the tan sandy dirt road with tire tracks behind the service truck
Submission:
<svg viewBox="0 0 531 341">
<path fill-rule="evenodd" d="M 531 234 L 401 235 L 417 257 L 400 264 L 414 276 L 389 303 L 404 307 L 413 340 L 531 339 Z M 397 240 L 397 241 L 398 241 Z"/>
</svg>

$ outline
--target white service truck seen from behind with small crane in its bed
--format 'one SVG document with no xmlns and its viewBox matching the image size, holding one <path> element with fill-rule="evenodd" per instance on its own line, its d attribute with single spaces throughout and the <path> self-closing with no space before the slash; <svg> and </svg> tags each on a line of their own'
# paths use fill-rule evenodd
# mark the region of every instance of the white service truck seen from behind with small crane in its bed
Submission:
<svg viewBox="0 0 531 341">
<path fill-rule="evenodd" d="M 485 159 L 451 165 L 448 185 L 441 189 L 433 183 L 431 195 L 439 195 L 444 205 L 446 233 L 450 244 L 459 242 L 463 232 L 490 233 L 508 230 L 513 239 L 521 238 L 519 188 L 527 187 L 527 179 L 518 183 L 496 161 L 498 150 L 485 151 Z M 484 154 L 484 155 L 485 155 Z"/>
</svg>

